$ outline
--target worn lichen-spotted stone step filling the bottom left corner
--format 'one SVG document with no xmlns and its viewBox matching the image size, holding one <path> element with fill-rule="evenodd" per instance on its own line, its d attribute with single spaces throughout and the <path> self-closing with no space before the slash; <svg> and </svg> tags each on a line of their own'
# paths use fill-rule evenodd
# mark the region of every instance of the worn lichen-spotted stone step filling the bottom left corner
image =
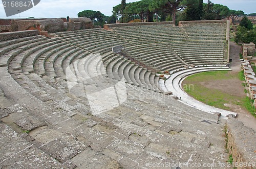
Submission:
<svg viewBox="0 0 256 169">
<path fill-rule="evenodd" d="M 27 141 L 27 133 L 19 134 L 6 124 L 0 123 L 1 133 L 1 166 L 10 168 L 74 168 L 71 162 L 61 163 L 48 153 L 37 148 L 32 142 Z M 33 162 L 32 160 L 36 161 Z"/>
</svg>

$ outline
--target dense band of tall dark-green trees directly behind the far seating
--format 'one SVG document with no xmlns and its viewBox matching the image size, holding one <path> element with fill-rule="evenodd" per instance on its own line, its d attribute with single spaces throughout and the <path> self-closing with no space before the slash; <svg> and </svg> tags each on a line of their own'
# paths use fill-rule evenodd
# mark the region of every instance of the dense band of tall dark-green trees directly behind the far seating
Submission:
<svg viewBox="0 0 256 169">
<path fill-rule="evenodd" d="M 141 21 L 173 21 L 180 20 L 219 20 L 229 17 L 235 20 L 244 15 L 243 11 L 230 10 L 228 7 L 214 4 L 208 0 L 141 0 L 113 7 L 113 15 L 120 22 Z M 170 20 L 171 19 L 171 20 Z"/>
</svg>

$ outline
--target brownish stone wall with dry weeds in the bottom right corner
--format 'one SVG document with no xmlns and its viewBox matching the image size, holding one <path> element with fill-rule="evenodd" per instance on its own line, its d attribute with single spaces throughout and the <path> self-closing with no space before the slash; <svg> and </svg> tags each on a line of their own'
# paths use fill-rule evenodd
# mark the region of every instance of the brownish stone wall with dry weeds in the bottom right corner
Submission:
<svg viewBox="0 0 256 169">
<path fill-rule="evenodd" d="M 241 164 L 237 166 L 241 168 L 255 168 L 256 166 L 248 166 L 249 162 L 256 165 L 256 135 L 255 132 L 245 127 L 242 122 L 233 118 L 231 115 L 227 119 L 227 149 L 232 155 L 233 164 Z"/>
</svg>

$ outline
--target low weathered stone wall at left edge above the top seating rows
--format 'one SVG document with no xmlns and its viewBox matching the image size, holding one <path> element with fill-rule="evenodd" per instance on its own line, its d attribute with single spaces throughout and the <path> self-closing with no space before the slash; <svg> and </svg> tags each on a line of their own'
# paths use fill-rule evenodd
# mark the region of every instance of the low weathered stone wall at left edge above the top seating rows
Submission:
<svg viewBox="0 0 256 169">
<path fill-rule="evenodd" d="M 0 34 L 0 41 L 12 40 L 12 39 L 24 38 L 24 37 L 36 36 L 36 35 L 39 35 L 38 30 L 6 32 L 6 33 Z"/>
</svg>

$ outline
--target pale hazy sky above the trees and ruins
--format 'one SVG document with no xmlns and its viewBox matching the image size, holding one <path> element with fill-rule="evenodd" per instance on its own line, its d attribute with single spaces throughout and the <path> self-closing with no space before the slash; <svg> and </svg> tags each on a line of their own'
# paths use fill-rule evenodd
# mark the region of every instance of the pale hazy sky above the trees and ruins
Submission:
<svg viewBox="0 0 256 169">
<path fill-rule="evenodd" d="M 126 0 L 126 3 L 136 0 Z M 242 10 L 246 14 L 256 13 L 256 0 L 211 0 L 214 4 L 222 4 L 229 9 Z M 77 17 L 77 13 L 83 10 L 100 11 L 104 15 L 112 15 L 112 7 L 121 3 L 121 0 L 41 0 L 38 5 L 20 13 L 21 18 L 26 17 Z M 207 3 L 207 0 L 204 0 Z M 0 4 L 0 18 L 18 18 L 19 15 L 6 17 L 3 4 Z"/>
</svg>

